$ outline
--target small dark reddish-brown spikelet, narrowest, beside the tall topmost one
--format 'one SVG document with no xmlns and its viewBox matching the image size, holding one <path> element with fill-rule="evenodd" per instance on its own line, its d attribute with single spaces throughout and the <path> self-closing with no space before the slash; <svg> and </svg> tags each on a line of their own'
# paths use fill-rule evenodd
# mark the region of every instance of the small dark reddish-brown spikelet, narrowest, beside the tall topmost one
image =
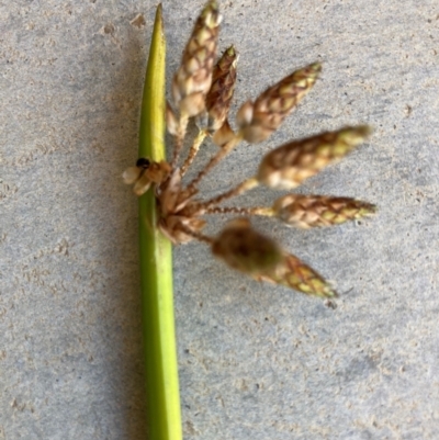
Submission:
<svg viewBox="0 0 439 440">
<path fill-rule="evenodd" d="M 212 86 L 205 99 L 210 133 L 219 129 L 227 117 L 235 91 L 237 63 L 238 54 L 234 46 L 230 46 L 213 69 Z"/>
</svg>

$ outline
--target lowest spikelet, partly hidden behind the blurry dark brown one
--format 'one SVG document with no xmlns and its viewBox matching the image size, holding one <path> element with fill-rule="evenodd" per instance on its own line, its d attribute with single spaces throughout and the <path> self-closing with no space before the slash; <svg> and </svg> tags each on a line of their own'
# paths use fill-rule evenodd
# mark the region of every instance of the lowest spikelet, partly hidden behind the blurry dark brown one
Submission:
<svg viewBox="0 0 439 440">
<path fill-rule="evenodd" d="M 262 280 L 285 285 L 295 291 L 322 297 L 335 297 L 337 293 L 312 268 L 291 253 L 284 253 L 283 260 L 274 271 L 266 273 Z"/>
</svg>

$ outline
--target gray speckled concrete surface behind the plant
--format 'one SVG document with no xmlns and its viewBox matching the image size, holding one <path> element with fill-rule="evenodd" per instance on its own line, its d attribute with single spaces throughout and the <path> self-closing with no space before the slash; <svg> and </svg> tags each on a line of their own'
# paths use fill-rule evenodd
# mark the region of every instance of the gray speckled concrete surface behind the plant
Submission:
<svg viewBox="0 0 439 440">
<path fill-rule="evenodd" d="M 201 5 L 164 1 L 168 83 Z M 137 203 L 120 176 L 136 159 L 154 12 L 149 0 L 0 1 L 0 439 L 145 438 Z M 223 13 L 221 47 L 240 53 L 233 113 L 311 61 L 324 74 L 203 193 L 292 137 L 369 123 L 370 142 L 301 191 L 380 212 L 311 232 L 255 222 L 336 282 L 336 309 L 234 273 L 203 245 L 176 249 L 184 437 L 439 438 L 438 2 L 240 0 Z"/>
</svg>

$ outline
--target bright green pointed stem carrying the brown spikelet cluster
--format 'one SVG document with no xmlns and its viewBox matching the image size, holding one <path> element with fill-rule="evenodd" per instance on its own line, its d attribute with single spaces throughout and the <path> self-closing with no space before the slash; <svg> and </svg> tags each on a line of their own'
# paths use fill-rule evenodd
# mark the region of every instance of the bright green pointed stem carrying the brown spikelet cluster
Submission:
<svg viewBox="0 0 439 440">
<path fill-rule="evenodd" d="M 165 153 L 165 56 L 161 5 L 157 8 L 142 102 L 139 157 Z M 157 229 L 154 191 L 139 198 L 140 284 L 146 359 L 148 440 L 181 440 L 181 410 L 172 295 L 171 244 Z"/>
</svg>

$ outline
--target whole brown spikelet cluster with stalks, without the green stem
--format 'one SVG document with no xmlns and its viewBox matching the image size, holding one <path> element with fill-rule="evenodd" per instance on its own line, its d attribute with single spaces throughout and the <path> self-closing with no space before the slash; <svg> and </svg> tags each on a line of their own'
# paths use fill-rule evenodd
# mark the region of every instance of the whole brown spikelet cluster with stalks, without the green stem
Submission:
<svg viewBox="0 0 439 440">
<path fill-rule="evenodd" d="M 344 127 L 292 140 L 268 153 L 256 176 L 214 199 L 201 199 L 198 184 L 204 176 L 239 143 L 260 143 L 277 131 L 311 91 L 322 70 L 318 63 L 312 64 L 270 87 L 255 101 L 244 103 L 237 112 L 238 128 L 234 132 L 228 123 L 228 110 L 236 83 L 238 56 L 232 46 L 215 64 L 219 23 L 218 3 L 207 2 L 173 77 L 173 108 L 168 103 L 166 109 L 167 127 L 175 138 L 171 161 L 154 162 L 142 158 L 124 172 L 123 179 L 133 184 L 137 195 L 154 191 L 159 211 L 157 227 L 173 244 L 196 239 L 207 244 L 213 255 L 229 267 L 256 280 L 311 295 L 336 296 L 334 289 L 317 272 L 271 238 L 256 232 L 248 217 L 270 216 L 290 226 L 311 228 L 364 217 L 375 212 L 374 205 L 354 199 L 315 194 L 284 195 L 268 207 L 221 204 L 258 185 L 282 190 L 296 188 L 360 145 L 370 129 L 362 125 Z M 185 160 L 179 166 L 191 117 L 195 120 L 199 133 Z M 211 138 L 218 150 L 192 181 L 183 184 L 182 177 L 205 138 Z M 202 229 L 206 224 L 204 216 L 212 214 L 237 214 L 238 217 L 226 224 L 216 237 L 211 237 Z"/>
</svg>

